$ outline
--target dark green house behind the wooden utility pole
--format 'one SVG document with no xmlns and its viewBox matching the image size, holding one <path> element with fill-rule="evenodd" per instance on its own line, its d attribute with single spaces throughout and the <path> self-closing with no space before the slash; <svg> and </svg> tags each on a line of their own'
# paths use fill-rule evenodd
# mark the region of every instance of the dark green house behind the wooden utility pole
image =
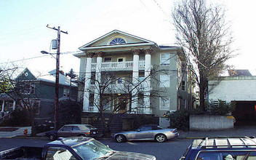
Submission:
<svg viewBox="0 0 256 160">
<path fill-rule="evenodd" d="M 15 79 L 16 85 L 20 86 L 20 97 L 29 100 L 33 105 L 36 124 L 44 124 L 45 121 L 52 121 L 55 108 L 55 70 L 48 75 L 34 76 L 28 68 L 20 73 Z M 60 72 L 60 100 L 71 98 L 76 100 L 77 87 L 70 79 Z M 9 97 L 7 94 L 0 95 L 1 113 L 10 113 L 23 105 L 20 97 Z M 0 116 L 1 117 L 1 116 Z"/>
</svg>

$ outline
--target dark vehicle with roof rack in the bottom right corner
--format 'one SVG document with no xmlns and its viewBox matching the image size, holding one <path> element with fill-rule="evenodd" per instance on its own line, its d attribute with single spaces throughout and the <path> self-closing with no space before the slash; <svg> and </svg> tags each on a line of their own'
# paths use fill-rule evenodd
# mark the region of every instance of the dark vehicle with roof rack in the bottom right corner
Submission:
<svg viewBox="0 0 256 160">
<path fill-rule="evenodd" d="M 193 140 L 180 160 L 256 159 L 255 137 L 205 137 Z"/>
</svg>

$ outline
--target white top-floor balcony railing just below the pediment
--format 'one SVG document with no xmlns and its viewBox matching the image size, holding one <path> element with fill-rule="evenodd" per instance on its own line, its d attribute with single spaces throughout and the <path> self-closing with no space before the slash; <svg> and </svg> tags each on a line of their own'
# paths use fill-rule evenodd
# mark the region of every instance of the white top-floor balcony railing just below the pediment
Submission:
<svg viewBox="0 0 256 160">
<path fill-rule="evenodd" d="M 92 63 L 92 70 L 95 70 L 97 63 Z M 139 67 L 145 67 L 145 61 L 139 61 Z M 101 63 L 101 68 L 133 68 L 133 61 Z"/>
</svg>

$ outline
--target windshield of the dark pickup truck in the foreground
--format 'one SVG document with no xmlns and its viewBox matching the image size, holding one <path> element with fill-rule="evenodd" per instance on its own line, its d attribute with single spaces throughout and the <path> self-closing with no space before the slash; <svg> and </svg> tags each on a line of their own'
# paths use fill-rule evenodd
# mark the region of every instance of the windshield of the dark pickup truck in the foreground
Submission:
<svg viewBox="0 0 256 160">
<path fill-rule="evenodd" d="M 108 148 L 108 146 L 103 145 L 103 143 L 97 140 L 89 140 L 87 143 L 75 145 L 72 148 L 82 159 L 98 159 L 113 153 L 111 148 Z"/>
</svg>

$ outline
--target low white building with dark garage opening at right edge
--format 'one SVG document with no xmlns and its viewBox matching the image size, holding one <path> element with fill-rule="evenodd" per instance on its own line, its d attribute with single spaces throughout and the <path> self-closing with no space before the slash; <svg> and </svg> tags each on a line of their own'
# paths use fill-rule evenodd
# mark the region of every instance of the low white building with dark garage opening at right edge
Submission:
<svg viewBox="0 0 256 160">
<path fill-rule="evenodd" d="M 256 119 L 256 76 L 248 70 L 230 70 L 220 81 L 209 81 L 209 100 L 235 101 L 237 120 Z"/>
</svg>

